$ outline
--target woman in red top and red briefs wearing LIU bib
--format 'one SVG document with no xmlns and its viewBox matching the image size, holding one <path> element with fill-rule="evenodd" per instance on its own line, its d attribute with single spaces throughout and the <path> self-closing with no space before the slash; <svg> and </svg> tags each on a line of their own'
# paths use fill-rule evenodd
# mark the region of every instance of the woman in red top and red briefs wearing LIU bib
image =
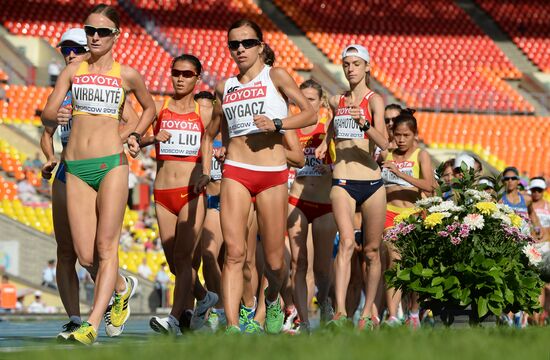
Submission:
<svg viewBox="0 0 550 360">
<path fill-rule="evenodd" d="M 195 184 L 203 176 L 201 141 L 212 118 L 212 104 L 199 105 L 194 90 L 200 80 L 202 65 L 195 56 L 184 54 L 174 58 L 171 66 L 175 94 L 156 104 L 154 135 L 144 138 L 141 146 L 155 144 L 157 176 L 154 197 L 160 238 L 170 271 L 175 275 L 174 305 L 166 318 L 153 316 L 150 326 L 162 333 L 177 333 L 184 314 L 186 294 L 193 292 L 197 273 L 193 269 L 193 253 L 206 215 L 206 199 L 195 192 Z M 209 156 L 207 156 L 210 159 Z M 210 176 L 208 176 L 210 177 Z M 218 296 L 201 287 L 196 314 L 191 328 L 204 324 L 206 311 Z M 194 316 L 196 318 L 196 316 Z"/>
</svg>

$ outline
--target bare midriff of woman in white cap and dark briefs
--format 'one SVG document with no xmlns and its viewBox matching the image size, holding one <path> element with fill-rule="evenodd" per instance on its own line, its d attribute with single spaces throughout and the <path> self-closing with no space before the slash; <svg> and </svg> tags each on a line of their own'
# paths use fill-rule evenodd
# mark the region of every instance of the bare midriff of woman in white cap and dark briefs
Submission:
<svg viewBox="0 0 550 360">
<path fill-rule="evenodd" d="M 374 161 L 369 141 L 364 139 L 335 140 L 336 161 L 332 177 L 346 180 L 378 180 L 380 167 Z"/>
</svg>

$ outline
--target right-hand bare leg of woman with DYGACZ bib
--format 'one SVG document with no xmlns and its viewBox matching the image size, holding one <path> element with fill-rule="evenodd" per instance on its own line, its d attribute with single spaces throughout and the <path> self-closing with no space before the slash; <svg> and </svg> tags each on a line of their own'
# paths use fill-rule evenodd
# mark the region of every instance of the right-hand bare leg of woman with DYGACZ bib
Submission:
<svg viewBox="0 0 550 360">
<path fill-rule="evenodd" d="M 268 280 L 266 301 L 277 300 L 288 277 L 285 264 L 285 229 L 288 212 L 286 183 L 262 191 L 256 196 L 258 227 L 264 247 L 265 274 Z"/>
</svg>

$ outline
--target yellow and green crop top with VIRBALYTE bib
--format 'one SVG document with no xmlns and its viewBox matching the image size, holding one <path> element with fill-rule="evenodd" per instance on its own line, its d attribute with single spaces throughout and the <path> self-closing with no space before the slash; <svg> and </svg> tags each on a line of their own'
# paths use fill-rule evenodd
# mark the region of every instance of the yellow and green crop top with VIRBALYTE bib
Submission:
<svg viewBox="0 0 550 360">
<path fill-rule="evenodd" d="M 73 116 L 121 118 L 125 93 L 118 62 L 113 63 L 107 74 L 92 74 L 88 70 L 88 62 L 82 61 L 72 82 Z"/>
</svg>

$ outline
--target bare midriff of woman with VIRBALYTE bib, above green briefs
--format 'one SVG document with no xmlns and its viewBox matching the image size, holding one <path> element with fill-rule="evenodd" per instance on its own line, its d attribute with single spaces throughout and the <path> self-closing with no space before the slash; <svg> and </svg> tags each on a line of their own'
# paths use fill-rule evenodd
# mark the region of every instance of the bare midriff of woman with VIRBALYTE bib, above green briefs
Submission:
<svg viewBox="0 0 550 360">
<path fill-rule="evenodd" d="M 107 116 L 75 115 L 66 160 L 82 160 L 118 154 L 123 151 L 119 121 Z"/>
</svg>

